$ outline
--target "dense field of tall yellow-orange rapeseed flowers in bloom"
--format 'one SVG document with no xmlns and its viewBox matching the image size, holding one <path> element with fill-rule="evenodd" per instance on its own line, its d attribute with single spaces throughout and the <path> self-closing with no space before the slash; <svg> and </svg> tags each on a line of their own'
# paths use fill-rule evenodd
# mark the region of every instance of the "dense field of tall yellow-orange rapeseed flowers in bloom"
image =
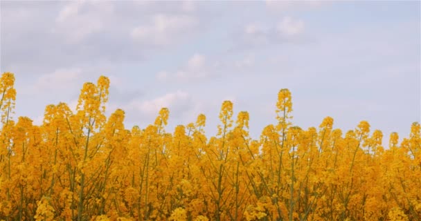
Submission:
<svg viewBox="0 0 421 221">
<path fill-rule="evenodd" d="M 0 79 L 0 220 L 420 220 L 421 132 L 388 148 L 368 122 L 343 133 L 292 124 L 289 90 L 259 140 L 226 101 L 217 135 L 206 117 L 166 133 L 105 116 L 109 79 L 84 84 L 78 107 L 45 109 L 43 124 L 12 118 L 14 75 Z M 386 119 L 387 120 L 387 119 Z"/>
</svg>

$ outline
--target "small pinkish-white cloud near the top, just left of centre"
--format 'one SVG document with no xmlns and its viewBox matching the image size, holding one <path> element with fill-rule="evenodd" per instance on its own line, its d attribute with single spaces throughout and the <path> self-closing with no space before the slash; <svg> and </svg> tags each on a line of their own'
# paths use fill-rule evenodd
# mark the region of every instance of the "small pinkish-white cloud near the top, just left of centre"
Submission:
<svg viewBox="0 0 421 221">
<path fill-rule="evenodd" d="M 190 15 L 152 16 L 150 23 L 132 29 L 131 37 L 138 44 L 165 46 L 197 26 L 199 21 Z"/>
</svg>

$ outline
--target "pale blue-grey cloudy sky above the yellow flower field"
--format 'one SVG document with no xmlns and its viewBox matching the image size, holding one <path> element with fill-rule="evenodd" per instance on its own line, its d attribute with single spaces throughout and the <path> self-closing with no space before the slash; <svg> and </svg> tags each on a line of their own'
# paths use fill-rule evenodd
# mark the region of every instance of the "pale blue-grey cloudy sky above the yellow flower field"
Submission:
<svg viewBox="0 0 421 221">
<path fill-rule="evenodd" d="M 16 115 L 75 106 L 82 84 L 111 79 L 107 113 L 168 131 L 225 99 L 249 111 L 254 138 L 276 123 L 281 88 L 294 124 L 368 120 L 388 136 L 420 122 L 420 1 L 1 1 L 0 69 L 15 73 Z M 386 144 L 387 145 L 387 144 Z"/>
</svg>

